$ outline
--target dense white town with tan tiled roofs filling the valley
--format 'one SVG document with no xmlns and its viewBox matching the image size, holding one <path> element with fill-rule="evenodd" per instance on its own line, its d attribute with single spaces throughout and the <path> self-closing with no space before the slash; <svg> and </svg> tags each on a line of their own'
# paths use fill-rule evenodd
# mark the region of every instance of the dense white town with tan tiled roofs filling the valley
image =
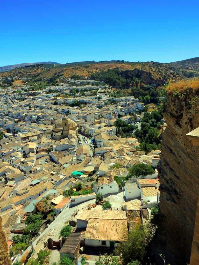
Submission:
<svg viewBox="0 0 199 265">
<path fill-rule="evenodd" d="M 112 253 L 159 204 L 161 151 L 145 154 L 116 126 L 140 129 L 144 103 L 109 96 L 94 80 L 43 90 L 23 82 L 0 90 L 0 209 L 10 258 L 22 264 L 47 249 L 49 264 L 85 253 L 95 264 L 92 255 Z"/>
</svg>

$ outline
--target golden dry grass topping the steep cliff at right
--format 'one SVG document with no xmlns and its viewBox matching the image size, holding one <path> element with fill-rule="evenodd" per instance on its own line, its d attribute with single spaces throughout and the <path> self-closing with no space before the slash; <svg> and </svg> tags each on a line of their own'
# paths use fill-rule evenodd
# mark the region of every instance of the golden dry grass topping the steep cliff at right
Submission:
<svg viewBox="0 0 199 265">
<path fill-rule="evenodd" d="M 171 83 L 166 88 L 166 91 L 172 92 L 177 90 L 178 92 L 183 92 L 187 88 L 192 88 L 195 91 L 199 90 L 199 79 L 189 79 L 189 80 L 182 80 L 179 82 Z"/>
</svg>

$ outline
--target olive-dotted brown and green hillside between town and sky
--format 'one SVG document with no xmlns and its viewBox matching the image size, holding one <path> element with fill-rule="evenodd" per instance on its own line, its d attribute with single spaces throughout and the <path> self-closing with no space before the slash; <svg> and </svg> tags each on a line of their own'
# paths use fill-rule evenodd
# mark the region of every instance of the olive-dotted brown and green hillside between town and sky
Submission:
<svg viewBox="0 0 199 265">
<path fill-rule="evenodd" d="M 158 63 L 154 61 L 132 63 L 120 60 L 84 61 L 67 64 L 45 62 L 28 66 L 24 65 L 24 67 L 1 72 L 0 78 L 11 79 L 8 83 L 6 83 L 6 80 L 3 82 L 6 86 L 12 84 L 17 86 L 25 83 L 33 86 L 34 89 L 42 89 L 56 83 L 64 83 L 64 80 L 71 77 L 73 79 L 88 78 L 104 81 L 114 87 L 123 86 L 123 89 L 130 87 L 132 80 L 134 84 L 137 82 L 138 84 L 162 86 L 166 82 L 198 76 L 198 62 L 193 60 L 194 58 L 174 63 Z M 187 68 L 188 66 L 189 68 Z M 1 85 L 5 86 L 3 83 Z"/>
</svg>

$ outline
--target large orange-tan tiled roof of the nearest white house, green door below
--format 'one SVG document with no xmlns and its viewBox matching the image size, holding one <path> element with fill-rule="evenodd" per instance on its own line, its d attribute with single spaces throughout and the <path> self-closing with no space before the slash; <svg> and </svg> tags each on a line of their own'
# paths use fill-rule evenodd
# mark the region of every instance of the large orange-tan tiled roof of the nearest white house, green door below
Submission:
<svg viewBox="0 0 199 265">
<path fill-rule="evenodd" d="M 89 219 L 85 238 L 96 240 L 125 241 L 127 220 Z"/>
</svg>

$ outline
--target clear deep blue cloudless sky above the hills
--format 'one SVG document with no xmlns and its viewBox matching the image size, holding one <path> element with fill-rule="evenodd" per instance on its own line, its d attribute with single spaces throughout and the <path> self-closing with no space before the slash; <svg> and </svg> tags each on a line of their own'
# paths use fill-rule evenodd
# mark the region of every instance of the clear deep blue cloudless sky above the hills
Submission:
<svg viewBox="0 0 199 265">
<path fill-rule="evenodd" d="M 199 56 L 199 2 L 1 1 L 0 66 Z"/>
</svg>

